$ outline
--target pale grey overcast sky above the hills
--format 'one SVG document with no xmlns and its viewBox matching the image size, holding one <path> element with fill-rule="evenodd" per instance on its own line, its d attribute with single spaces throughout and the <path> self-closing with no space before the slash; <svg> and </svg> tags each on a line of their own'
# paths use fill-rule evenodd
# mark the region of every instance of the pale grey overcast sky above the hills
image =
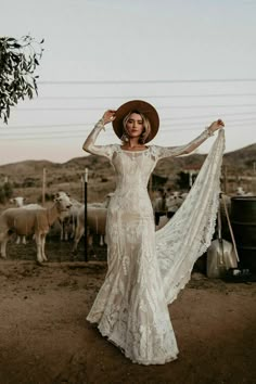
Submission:
<svg viewBox="0 0 256 384">
<path fill-rule="evenodd" d="M 217 118 L 226 152 L 256 142 L 255 0 L 1 0 L 0 17 L 2 36 L 44 38 L 39 97 L 0 123 L 0 164 L 84 156 L 103 112 L 131 99 L 158 111 L 152 144 L 183 144 Z M 98 143 L 113 142 L 107 126 Z"/>
</svg>

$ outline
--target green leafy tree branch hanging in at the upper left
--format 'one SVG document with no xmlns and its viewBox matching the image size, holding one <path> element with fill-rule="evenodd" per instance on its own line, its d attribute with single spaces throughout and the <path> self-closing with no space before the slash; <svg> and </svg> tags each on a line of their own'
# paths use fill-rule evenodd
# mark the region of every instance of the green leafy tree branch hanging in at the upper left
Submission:
<svg viewBox="0 0 256 384">
<path fill-rule="evenodd" d="M 20 40 L 0 37 L 0 118 L 8 124 L 11 106 L 37 94 L 34 73 L 42 56 L 42 39 L 39 43 L 30 36 Z"/>
</svg>

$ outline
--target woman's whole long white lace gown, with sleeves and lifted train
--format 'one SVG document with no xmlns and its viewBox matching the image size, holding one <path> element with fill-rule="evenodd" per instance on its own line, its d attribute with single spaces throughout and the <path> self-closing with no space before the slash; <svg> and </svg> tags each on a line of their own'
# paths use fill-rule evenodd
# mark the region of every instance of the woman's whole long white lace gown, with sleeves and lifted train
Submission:
<svg viewBox="0 0 256 384">
<path fill-rule="evenodd" d="M 107 208 L 107 273 L 87 317 L 126 357 L 141 364 L 163 364 L 178 355 L 168 307 L 190 279 L 208 247 L 218 207 L 223 130 L 218 135 L 185 202 L 155 232 L 148 182 L 158 159 L 177 156 L 205 140 L 204 131 L 188 145 L 151 145 L 124 151 L 119 144 L 95 145 L 100 120 L 87 150 L 106 156 L 116 171 L 116 191 Z"/>
</svg>

